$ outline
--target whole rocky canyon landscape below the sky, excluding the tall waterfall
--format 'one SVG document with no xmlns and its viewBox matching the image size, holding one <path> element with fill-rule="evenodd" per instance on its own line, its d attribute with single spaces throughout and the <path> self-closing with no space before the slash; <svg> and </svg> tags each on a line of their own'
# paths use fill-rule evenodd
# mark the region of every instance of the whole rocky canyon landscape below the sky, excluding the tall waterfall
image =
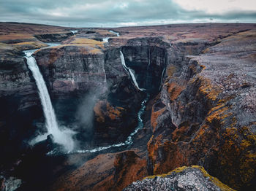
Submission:
<svg viewBox="0 0 256 191">
<path fill-rule="evenodd" d="M 47 129 L 26 50 L 72 151 L 30 144 Z M 254 190 L 255 63 L 255 24 L 0 23 L 1 191 Z"/>
</svg>

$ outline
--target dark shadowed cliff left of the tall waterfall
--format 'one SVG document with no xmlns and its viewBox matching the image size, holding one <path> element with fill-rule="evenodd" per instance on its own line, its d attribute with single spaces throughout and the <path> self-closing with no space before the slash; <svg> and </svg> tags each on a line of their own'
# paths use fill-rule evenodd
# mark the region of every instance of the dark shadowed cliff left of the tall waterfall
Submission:
<svg viewBox="0 0 256 191">
<path fill-rule="evenodd" d="M 5 156 L 1 157 L 4 165 L 26 147 L 26 140 L 34 130 L 32 122 L 42 116 L 42 109 L 34 78 L 20 53 L 23 45 L 0 44 L 0 148 Z M 45 46 L 31 44 L 34 48 L 40 45 Z"/>
</svg>

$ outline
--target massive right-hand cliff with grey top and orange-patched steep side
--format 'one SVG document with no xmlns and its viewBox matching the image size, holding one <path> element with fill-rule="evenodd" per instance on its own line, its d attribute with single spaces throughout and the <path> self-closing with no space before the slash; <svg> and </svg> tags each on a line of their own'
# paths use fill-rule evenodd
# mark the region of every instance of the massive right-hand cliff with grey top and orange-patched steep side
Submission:
<svg viewBox="0 0 256 191">
<path fill-rule="evenodd" d="M 202 55 L 187 57 L 179 73 L 169 63 L 152 109 L 150 173 L 199 164 L 230 187 L 255 187 L 253 36 L 254 30 L 222 39 Z"/>
</svg>

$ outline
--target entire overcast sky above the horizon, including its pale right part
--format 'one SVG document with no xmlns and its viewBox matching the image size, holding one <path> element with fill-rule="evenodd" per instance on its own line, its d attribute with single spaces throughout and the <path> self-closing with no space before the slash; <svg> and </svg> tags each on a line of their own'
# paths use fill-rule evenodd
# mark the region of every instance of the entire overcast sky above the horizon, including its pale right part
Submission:
<svg viewBox="0 0 256 191">
<path fill-rule="evenodd" d="M 256 23 L 256 0 L 0 0 L 0 21 L 58 26 Z"/>
</svg>

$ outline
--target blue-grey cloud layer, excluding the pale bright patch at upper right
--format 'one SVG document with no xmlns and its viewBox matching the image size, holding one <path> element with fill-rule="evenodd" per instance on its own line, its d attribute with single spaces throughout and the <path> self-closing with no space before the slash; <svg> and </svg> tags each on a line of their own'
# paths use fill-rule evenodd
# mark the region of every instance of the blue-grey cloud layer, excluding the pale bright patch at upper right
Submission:
<svg viewBox="0 0 256 191">
<path fill-rule="evenodd" d="M 49 23 L 67 26 L 116 26 L 119 23 L 145 24 L 180 20 L 214 19 L 254 22 L 256 12 L 224 12 L 209 15 L 206 12 L 187 11 L 172 0 L 7 0 L 0 2 L 0 21 Z"/>
</svg>

